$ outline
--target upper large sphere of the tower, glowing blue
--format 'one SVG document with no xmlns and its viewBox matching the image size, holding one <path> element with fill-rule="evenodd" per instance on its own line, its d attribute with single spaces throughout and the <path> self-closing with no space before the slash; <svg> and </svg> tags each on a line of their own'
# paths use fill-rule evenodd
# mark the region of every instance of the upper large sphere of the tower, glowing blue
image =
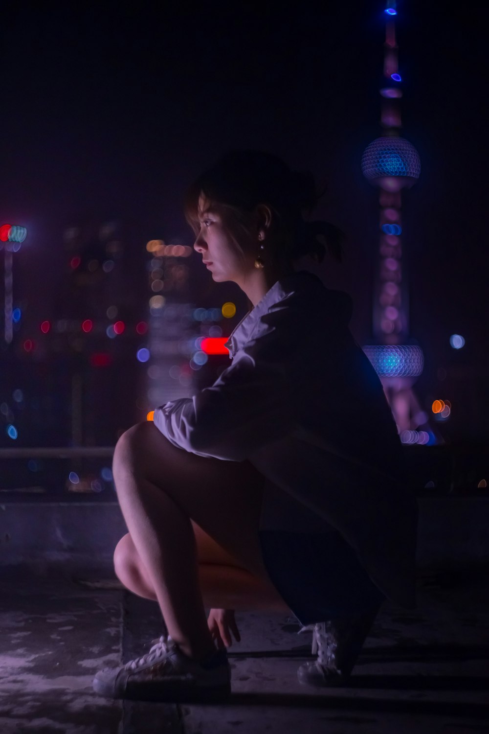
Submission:
<svg viewBox="0 0 489 734">
<path fill-rule="evenodd" d="M 365 148 L 361 172 L 374 186 L 399 191 L 416 183 L 421 161 L 416 148 L 405 138 L 383 136 Z"/>
</svg>

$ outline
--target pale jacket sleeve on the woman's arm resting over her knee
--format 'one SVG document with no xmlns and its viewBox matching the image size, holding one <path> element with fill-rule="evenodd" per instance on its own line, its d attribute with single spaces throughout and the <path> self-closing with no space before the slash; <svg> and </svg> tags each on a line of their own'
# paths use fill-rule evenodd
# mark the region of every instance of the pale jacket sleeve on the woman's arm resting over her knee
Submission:
<svg viewBox="0 0 489 734">
<path fill-rule="evenodd" d="M 293 430 L 293 345 L 283 318 L 262 317 L 265 333 L 236 352 L 209 388 L 155 410 L 155 426 L 174 446 L 240 462 Z"/>
</svg>

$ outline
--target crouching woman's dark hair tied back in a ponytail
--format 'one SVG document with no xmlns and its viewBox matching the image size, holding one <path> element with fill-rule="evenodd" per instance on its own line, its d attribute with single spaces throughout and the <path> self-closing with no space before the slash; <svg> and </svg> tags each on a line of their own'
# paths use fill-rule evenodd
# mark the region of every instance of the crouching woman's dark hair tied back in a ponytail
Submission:
<svg viewBox="0 0 489 734">
<path fill-rule="evenodd" d="M 271 153 L 231 150 L 188 187 L 185 218 L 196 232 L 199 197 L 203 194 L 246 229 L 249 214 L 259 204 L 266 204 L 275 215 L 271 225 L 275 251 L 267 250 L 267 254 L 279 260 L 296 260 L 309 254 L 320 263 L 328 251 L 341 262 L 345 233 L 329 222 L 306 222 L 303 217 L 303 212 L 312 212 L 325 190 L 317 194 L 312 173 L 290 170 Z"/>
</svg>

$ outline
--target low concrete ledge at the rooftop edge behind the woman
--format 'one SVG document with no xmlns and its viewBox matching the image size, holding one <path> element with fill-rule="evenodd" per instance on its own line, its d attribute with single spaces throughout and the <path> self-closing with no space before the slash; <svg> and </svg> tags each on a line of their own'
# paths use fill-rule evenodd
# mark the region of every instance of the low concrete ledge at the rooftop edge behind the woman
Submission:
<svg viewBox="0 0 489 734">
<path fill-rule="evenodd" d="M 489 560 L 489 497 L 418 501 L 419 568 Z M 0 504 L 0 566 L 110 565 L 114 548 L 127 531 L 115 501 Z"/>
</svg>

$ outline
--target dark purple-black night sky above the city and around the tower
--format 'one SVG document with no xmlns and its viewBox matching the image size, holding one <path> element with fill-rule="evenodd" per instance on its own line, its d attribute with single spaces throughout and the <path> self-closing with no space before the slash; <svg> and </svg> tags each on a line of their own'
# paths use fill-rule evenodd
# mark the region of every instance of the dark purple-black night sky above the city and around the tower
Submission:
<svg viewBox="0 0 489 734">
<path fill-rule="evenodd" d="M 353 296 L 353 333 L 369 338 L 378 190 L 360 161 L 381 134 L 385 6 L 284 7 L 2 9 L 0 212 L 29 230 L 15 256 L 23 298 L 52 309 L 63 231 L 85 217 L 136 225 L 134 248 L 152 238 L 192 244 L 185 186 L 227 148 L 261 148 L 328 183 L 315 218 L 345 230 L 345 263 L 307 266 Z M 397 42 L 402 136 L 422 161 L 419 182 L 402 199 L 411 335 L 427 360 L 419 390 L 435 395 L 438 367 L 452 365 L 473 386 L 464 400 L 487 404 L 488 62 L 480 8 L 450 14 L 447 4 L 400 2 Z M 466 338 L 460 355 L 449 346 L 452 333 Z"/>
</svg>

